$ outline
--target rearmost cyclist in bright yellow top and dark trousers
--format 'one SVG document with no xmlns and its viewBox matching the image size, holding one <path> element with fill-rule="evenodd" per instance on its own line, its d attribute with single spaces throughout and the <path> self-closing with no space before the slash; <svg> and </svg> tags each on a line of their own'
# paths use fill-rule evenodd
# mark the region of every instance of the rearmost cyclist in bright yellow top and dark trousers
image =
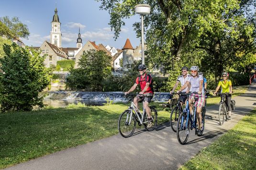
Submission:
<svg viewBox="0 0 256 170">
<path fill-rule="evenodd" d="M 216 87 L 216 90 L 213 94 L 216 94 L 219 90 L 219 88 L 222 86 L 222 90 L 221 93 L 228 93 L 228 95 L 226 95 L 227 97 L 227 105 L 228 105 L 228 115 L 229 118 L 231 119 L 231 105 L 230 105 L 230 101 L 231 101 L 231 94 L 232 94 L 232 83 L 231 80 L 229 80 L 229 74 L 227 72 L 223 72 L 222 74 L 222 80 L 219 82 L 218 86 Z"/>
</svg>

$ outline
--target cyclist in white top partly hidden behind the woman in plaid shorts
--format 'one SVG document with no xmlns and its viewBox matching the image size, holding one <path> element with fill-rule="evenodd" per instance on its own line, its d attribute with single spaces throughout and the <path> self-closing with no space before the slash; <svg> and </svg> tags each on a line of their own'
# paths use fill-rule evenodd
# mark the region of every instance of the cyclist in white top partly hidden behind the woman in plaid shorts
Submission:
<svg viewBox="0 0 256 170">
<path fill-rule="evenodd" d="M 177 88 L 179 83 L 180 83 L 181 86 L 183 86 L 186 83 L 186 81 L 188 80 L 189 76 L 190 76 L 188 74 L 188 71 L 189 71 L 188 67 L 184 66 L 184 67 L 181 68 L 180 71 L 181 71 L 181 75 L 178 76 L 176 84 L 173 86 L 173 89 L 172 89 L 172 91 L 170 91 L 170 94 L 172 94 L 174 92 L 174 90 Z M 182 90 L 182 92 L 189 93 L 189 87 L 186 87 L 184 90 Z M 186 96 L 180 96 L 181 106 L 185 102 L 186 102 Z"/>
</svg>

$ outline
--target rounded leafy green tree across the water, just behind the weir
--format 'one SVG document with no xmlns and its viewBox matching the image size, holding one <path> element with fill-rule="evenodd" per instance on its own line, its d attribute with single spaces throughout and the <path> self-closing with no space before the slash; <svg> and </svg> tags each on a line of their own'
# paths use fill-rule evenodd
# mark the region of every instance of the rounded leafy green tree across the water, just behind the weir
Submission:
<svg viewBox="0 0 256 170">
<path fill-rule="evenodd" d="M 78 65 L 85 70 L 93 90 L 102 90 L 102 82 L 111 75 L 111 56 L 100 50 L 84 51 Z"/>
</svg>

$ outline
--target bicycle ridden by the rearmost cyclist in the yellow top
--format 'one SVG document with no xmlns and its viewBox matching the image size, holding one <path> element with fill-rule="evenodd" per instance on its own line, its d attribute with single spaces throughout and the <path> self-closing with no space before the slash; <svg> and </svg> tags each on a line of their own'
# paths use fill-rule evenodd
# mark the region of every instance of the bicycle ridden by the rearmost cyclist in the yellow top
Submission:
<svg viewBox="0 0 256 170">
<path fill-rule="evenodd" d="M 221 96 L 220 106 L 219 106 L 219 122 L 220 125 L 224 123 L 224 116 L 226 121 L 228 121 L 229 114 L 228 114 L 228 105 L 227 105 L 227 97 L 229 93 L 216 93 L 216 95 Z"/>
</svg>

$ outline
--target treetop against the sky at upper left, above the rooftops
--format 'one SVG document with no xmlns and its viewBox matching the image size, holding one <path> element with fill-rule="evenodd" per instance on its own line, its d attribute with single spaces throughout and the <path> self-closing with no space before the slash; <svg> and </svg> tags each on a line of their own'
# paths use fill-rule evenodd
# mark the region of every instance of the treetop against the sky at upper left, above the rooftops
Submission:
<svg viewBox="0 0 256 170">
<path fill-rule="evenodd" d="M 0 35 L 5 35 L 8 39 L 11 39 L 13 37 L 28 39 L 28 36 L 30 35 L 28 26 L 19 21 L 18 17 L 12 17 L 12 19 L 10 20 L 8 16 L 4 16 L 0 18 L 0 26 Z M 11 32 L 9 32 L 7 28 Z"/>
</svg>

